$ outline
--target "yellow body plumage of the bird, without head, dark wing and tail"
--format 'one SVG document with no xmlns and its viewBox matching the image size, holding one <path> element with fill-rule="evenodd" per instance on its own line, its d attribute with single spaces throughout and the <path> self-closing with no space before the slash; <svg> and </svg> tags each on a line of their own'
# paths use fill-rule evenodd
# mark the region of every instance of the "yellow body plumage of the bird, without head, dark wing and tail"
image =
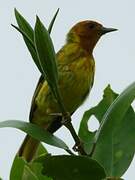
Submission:
<svg viewBox="0 0 135 180">
<path fill-rule="evenodd" d="M 77 54 L 78 57 L 74 54 Z M 67 111 L 73 113 L 85 100 L 92 87 L 94 59 L 90 55 L 86 57 L 83 49 L 77 47 L 76 44 L 69 43 L 58 52 L 57 60 L 59 88 Z M 60 113 L 57 101 L 54 99 L 46 81 L 39 90 L 35 103 L 38 108 L 33 113 L 32 122 L 36 124 L 49 125 L 49 122 L 52 123 L 53 120 L 50 114 Z"/>
</svg>

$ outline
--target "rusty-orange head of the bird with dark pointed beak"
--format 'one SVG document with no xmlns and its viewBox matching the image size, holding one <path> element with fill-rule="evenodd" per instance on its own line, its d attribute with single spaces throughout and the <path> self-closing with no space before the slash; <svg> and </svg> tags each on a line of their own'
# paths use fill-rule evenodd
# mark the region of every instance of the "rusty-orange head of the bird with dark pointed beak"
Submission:
<svg viewBox="0 0 135 180">
<path fill-rule="evenodd" d="M 102 35 L 116 30 L 105 28 L 95 21 L 82 21 L 72 27 L 67 35 L 67 41 L 79 43 L 82 48 L 92 52 Z"/>
</svg>

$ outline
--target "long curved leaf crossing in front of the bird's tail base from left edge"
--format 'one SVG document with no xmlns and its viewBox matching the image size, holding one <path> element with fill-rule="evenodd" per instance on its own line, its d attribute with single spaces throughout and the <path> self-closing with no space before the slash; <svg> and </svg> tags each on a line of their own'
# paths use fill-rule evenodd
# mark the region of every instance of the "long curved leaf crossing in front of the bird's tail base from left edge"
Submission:
<svg viewBox="0 0 135 180">
<path fill-rule="evenodd" d="M 9 121 L 3 121 L 0 122 L 0 128 L 4 127 L 12 127 L 17 128 L 21 131 L 24 131 L 25 133 L 29 134 L 33 138 L 42 141 L 44 143 L 47 143 L 49 145 L 62 148 L 62 149 L 68 149 L 67 145 L 56 136 L 52 135 L 51 133 L 47 132 L 45 129 L 32 124 L 27 123 L 23 121 L 16 121 L 16 120 L 9 120 Z"/>
</svg>

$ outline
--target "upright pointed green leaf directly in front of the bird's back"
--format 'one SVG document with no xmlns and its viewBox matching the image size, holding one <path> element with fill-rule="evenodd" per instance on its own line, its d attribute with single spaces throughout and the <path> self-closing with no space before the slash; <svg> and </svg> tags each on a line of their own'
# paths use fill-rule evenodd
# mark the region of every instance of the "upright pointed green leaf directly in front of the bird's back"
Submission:
<svg viewBox="0 0 135 180">
<path fill-rule="evenodd" d="M 55 50 L 47 29 L 38 17 L 36 19 L 34 38 L 43 75 L 46 77 L 51 90 L 55 94 L 58 83 Z"/>
</svg>

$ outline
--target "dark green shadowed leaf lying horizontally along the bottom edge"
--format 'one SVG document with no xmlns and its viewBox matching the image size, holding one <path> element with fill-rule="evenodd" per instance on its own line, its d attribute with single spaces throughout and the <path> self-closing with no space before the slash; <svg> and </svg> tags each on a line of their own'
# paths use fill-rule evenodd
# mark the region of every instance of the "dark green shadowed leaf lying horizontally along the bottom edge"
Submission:
<svg viewBox="0 0 135 180">
<path fill-rule="evenodd" d="M 86 156 L 44 156 L 37 160 L 43 165 L 43 174 L 54 180 L 101 180 L 106 177 L 104 169 Z"/>
</svg>

